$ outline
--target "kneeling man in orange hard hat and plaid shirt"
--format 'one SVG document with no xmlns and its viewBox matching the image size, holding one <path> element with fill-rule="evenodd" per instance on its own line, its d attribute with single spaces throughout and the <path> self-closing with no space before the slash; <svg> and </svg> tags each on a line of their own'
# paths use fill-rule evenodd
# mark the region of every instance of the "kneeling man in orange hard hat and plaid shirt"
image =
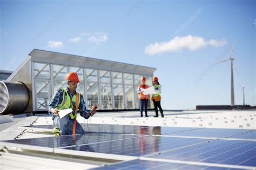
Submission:
<svg viewBox="0 0 256 170">
<path fill-rule="evenodd" d="M 53 124 L 56 126 L 53 131 L 56 135 L 68 134 L 84 134 L 83 127 L 77 123 L 77 110 L 80 115 L 88 119 L 96 110 L 87 111 L 82 94 L 76 92 L 78 83 L 80 83 L 76 72 L 70 72 L 65 77 L 67 87 L 59 89 L 48 105 L 48 112 L 53 113 Z M 59 117 L 59 110 L 72 108 L 72 112 L 65 115 L 63 118 Z"/>
</svg>

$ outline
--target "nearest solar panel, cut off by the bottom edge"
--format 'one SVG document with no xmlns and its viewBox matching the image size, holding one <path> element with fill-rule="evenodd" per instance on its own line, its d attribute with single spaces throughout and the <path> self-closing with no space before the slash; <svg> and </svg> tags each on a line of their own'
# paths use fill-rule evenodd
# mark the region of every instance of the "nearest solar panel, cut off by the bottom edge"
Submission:
<svg viewBox="0 0 256 170">
<path fill-rule="evenodd" d="M 204 165 L 190 165 L 190 164 L 177 164 L 161 161 L 148 161 L 148 160 L 131 160 L 123 161 L 115 164 L 104 165 L 92 169 L 227 169 L 224 167 L 204 166 Z"/>
</svg>

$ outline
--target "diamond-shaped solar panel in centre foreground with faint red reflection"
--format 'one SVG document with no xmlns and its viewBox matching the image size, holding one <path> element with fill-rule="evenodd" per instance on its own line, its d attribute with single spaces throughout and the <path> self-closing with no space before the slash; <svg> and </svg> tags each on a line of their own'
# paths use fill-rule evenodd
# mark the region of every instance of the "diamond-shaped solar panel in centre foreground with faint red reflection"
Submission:
<svg viewBox="0 0 256 170">
<path fill-rule="evenodd" d="M 204 141 L 206 141 L 206 139 L 138 136 L 131 139 L 90 144 L 89 146 L 95 148 L 95 152 L 98 153 L 129 155 L 138 157 L 146 154 L 166 151 L 168 149 L 198 144 Z M 79 145 L 79 147 L 65 147 L 65 149 L 70 149 L 74 151 L 88 151 L 87 144 Z"/>
</svg>

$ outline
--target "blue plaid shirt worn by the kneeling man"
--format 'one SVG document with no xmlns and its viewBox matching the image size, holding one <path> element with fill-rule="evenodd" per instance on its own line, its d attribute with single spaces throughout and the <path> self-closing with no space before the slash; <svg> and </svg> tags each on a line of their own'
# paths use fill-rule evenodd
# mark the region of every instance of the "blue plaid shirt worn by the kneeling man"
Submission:
<svg viewBox="0 0 256 170">
<path fill-rule="evenodd" d="M 70 91 L 69 91 L 69 87 L 66 87 L 66 90 L 68 91 L 69 97 L 70 99 L 72 99 L 73 95 L 76 94 L 76 92 L 71 95 Z M 48 112 L 52 115 L 52 120 L 57 116 L 53 113 L 50 112 L 51 108 L 56 108 L 58 106 L 58 104 L 61 104 L 63 100 L 63 92 L 61 89 L 59 89 L 55 95 L 52 97 L 50 103 L 48 104 Z M 84 103 L 84 97 L 82 96 L 82 94 L 80 95 L 80 104 L 78 106 L 78 110 L 80 112 L 80 115 L 82 117 L 84 117 L 85 119 L 88 119 L 89 117 L 86 116 L 87 113 L 89 113 L 90 111 L 86 110 L 85 107 L 85 103 Z"/>
</svg>

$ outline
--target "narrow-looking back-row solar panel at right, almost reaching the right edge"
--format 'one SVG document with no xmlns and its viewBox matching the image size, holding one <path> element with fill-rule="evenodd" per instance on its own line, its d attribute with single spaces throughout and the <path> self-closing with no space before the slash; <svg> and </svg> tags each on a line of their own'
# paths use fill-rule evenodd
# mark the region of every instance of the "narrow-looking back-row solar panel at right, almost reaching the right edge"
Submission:
<svg viewBox="0 0 256 170">
<path fill-rule="evenodd" d="M 198 128 L 193 131 L 166 133 L 170 135 L 190 136 L 190 137 L 213 137 L 225 138 L 232 135 L 250 132 L 250 130 L 228 129 L 228 128 Z"/>
</svg>

